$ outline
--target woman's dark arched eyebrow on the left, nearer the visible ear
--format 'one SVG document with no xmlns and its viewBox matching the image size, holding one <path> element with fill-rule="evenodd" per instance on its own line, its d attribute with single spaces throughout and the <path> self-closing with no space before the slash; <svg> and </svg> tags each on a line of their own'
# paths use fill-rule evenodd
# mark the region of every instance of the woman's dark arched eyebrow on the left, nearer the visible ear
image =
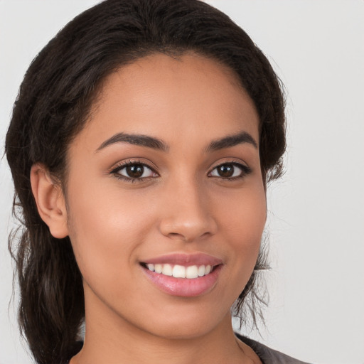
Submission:
<svg viewBox="0 0 364 364">
<path fill-rule="evenodd" d="M 106 148 L 109 145 L 117 144 L 117 143 L 128 143 L 138 146 L 146 146 L 147 148 L 157 149 L 161 151 L 168 151 L 168 146 L 161 139 L 157 139 L 154 137 L 149 137 L 148 135 L 143 134 L 126 134 L 126 133 L 117 133 L 114 134 L 111 138 L 105 140 L 96 151 L 100 151 L 101 149 Z"/>
</svg>

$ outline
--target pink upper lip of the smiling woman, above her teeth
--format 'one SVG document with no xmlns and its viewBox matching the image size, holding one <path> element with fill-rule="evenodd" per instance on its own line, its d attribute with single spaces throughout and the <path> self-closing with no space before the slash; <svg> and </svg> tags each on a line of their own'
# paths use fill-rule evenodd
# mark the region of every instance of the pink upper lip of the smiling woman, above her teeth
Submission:
<svg viewBox="0 0 364 364">
<path fill-rule="evenodd" d="M 143 260 L 145 264 L 218 265 L 223 260 L 205 253 L 173 253 Z"/>
</svg>

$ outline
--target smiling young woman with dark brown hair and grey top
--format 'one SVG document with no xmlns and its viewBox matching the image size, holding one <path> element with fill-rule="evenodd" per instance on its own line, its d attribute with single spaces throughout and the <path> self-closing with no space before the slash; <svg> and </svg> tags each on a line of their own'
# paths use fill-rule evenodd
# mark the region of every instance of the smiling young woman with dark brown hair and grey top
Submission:
<svg viewBox="0 0 364 364">
<path fill-rule="evenodd" d="M 6 136 L 37 363 L 300 363 L 235 336 L 230 314 L 259 299 L 284 149 L 277 77 L 224 14 L 109 0 L 71 21 Z"/>
</svg>

